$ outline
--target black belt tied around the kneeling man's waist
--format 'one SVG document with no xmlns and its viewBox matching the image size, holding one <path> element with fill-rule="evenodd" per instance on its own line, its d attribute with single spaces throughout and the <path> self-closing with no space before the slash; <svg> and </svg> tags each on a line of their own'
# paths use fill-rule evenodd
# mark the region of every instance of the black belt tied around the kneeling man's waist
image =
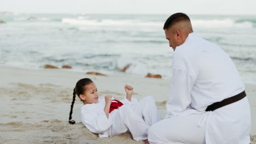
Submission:
<svg viewBox="0 0 256 144">
<path fill-rule="evenodd" d="M 217 103 L 213 103 L 213 104 L 209 105 L 205 111 L 214 111 L 214 110 L 219 109 L 220 107 L 223 107 L 225 105 L 235 103 L 236 101 L 241 100 L 245 97 L 246 97 L 246 93 L 245 93 L 245 91 L 243 91 L 233 97 L 230 97 L 230 98 L 224 99 L 222 101 L 219 101 Z"/>
</svg>

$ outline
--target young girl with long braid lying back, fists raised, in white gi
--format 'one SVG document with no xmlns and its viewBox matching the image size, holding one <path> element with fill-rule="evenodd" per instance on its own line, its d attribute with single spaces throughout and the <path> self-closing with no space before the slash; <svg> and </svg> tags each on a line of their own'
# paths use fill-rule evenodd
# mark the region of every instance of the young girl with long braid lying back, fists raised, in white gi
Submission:
<svg viewBox="0 0 256 144">
<path fill-rule="evenodd" d="M 155 101 L 152 97 L 143 98 L 139 102 L 131 98 L 131 86 L 125 85 L 125 91 L 126 98 L 120 100 L 123 105 L 116 109 L 117 107 L 113 108 L 116 101 L 112 101 L 112 96 L 98 97 L 94 82 L 88 78 L 79 80 L 73 92 L 69 123 L 75 123 L 71 119 L 75 95 L 78 95 L 84 103 L 81 107 L 82 123 L 92 133 L 98 134 L 99 137 L 107 137 L 120 135 L 129 130 L 134 140 L 147 142 L 148 128 L 160 120 Z M 118 103 L 121 104 L 120 102 Z"/>
</svg>

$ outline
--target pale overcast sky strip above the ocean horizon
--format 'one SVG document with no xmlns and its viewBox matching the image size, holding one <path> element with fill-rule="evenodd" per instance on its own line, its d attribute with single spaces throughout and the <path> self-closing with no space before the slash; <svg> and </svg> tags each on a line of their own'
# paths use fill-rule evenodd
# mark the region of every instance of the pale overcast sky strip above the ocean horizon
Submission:
<svg viewBox="0 0 256 144">
<path fill-rule="evenodd" d="M 256 15 L 256 0 L 0 0 L 16 13 Z"/>
</svg>

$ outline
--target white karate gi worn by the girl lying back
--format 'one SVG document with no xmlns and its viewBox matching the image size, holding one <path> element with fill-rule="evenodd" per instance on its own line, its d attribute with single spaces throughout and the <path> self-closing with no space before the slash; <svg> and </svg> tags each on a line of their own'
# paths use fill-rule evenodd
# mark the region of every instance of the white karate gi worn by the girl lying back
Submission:
<svg viewBox="0 0 256 144">
<path fill-rule="evenodd" d="M 139 102 L 133 98 L 120 101 L 124 105 L 109 113 L 108 118 L 104 112 L 104 97 L 96 104 L 83 105 L 82 123 L 100 137 L 116 136 L 129 130 L 134 140 L 147 140 L 148 128 L 160 120 L 153 97 L 145 97 Z"/>
</svg>

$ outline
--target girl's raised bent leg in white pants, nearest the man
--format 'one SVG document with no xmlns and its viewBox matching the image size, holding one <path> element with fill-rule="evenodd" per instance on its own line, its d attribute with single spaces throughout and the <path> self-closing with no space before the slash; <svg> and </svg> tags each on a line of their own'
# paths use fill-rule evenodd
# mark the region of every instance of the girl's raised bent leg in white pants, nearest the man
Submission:
<svg viewBox="0 0 256 144">
<path fill-rule="evenodd" d="M 160 121 L 158 109 L 156 108 L 153 97 L 145 97 L 138 104 L 131 105 L 133 111 L 143 117 L 144 121 L 149 125 L 153 125 Z"/>
</svg>

